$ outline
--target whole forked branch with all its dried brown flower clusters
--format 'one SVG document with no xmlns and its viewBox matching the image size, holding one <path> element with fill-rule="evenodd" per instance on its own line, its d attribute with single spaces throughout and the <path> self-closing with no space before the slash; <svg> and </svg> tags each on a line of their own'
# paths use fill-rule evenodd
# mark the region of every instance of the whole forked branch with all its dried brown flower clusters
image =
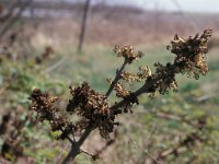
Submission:
<svg viewBox="0 0 219 164">
<path fill-rule="evenodd" d="M 115 52 L 118 57 L 124 58 L 124 63 L 117 70 L 115 79 L 113 81 L 108 80 L 111 85 L 106 94 L 92 90 L 87 82 L 83 82 L 78 87 L 70 86 L 72 97 L 69 99 L 66 110 L 80 116 L 82 119 L 78 122 L 73 124 L 61 116 L 59 108 L 55 105 L 57 97 L 44 94 L 39 90 L 34 90 L 31 95 L 31 108 L 37 113 L 38 120 L 49 121 L 51 130 L 62 131 L 61 139 L 84 130 L 81 138 L 76 141 L 77 144 L 72 143 L 72 150 L 65 159 L 65 162 L 69 162 L 80 153 L 81 144 L 92 130 L 99 129 L 103 138 L 108 138 L 115 125 L 118 125 L 115 122 L 115 116 L 123 112 L 131 112 L 132 105 L 139 104 L 139 95 L 143 93 L 150 93 L 151 95 L 155 93 L 165 94 L 170 90 L 175 91 L 177 89 L 175 75 L 178 73 L 186 73 L 195 79 L 198 79 L 199 74 L 205 75 L 208 71 L 205 55 L 208 51 L 207 42 L 210 36 L 211 30 L 204 31 L 200 37 L 196 35 L 187 39 L 175 35 L 174 40 L 168 46 L 168 49 L 175 54 L 174 62 L 168 62 L 166 65 L 154 63 L 154 72 L 151 72 L 148 67 L 140 67 L 137 73 L 125 71 L 125 67 L 141 58 L 142 52 L 136 52 L 131 46 L 116 46 Z M 137 91 L 126 89 L 131 83 L 141 81 L 145 81 L 145 83 Z M 112 91 L 116 92 L 118 102 L 110 106 L 108 98 Z"/>
</svg>

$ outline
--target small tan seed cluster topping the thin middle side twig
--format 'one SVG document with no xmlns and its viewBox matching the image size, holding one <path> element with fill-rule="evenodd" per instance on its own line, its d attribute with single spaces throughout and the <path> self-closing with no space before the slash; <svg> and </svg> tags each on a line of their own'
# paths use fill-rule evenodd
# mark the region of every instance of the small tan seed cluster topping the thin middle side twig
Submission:
<svg viewBox="0 0 219 164">
<path fill-rule="evenodd" d="M 118 57 L 124 57 L 128 63 L 131 63 L 134 60 L 138 60 L 143 56 L 141 51 L 136 52 L 132 46 L 115 46 L 114 51 Z"/>
</svg>

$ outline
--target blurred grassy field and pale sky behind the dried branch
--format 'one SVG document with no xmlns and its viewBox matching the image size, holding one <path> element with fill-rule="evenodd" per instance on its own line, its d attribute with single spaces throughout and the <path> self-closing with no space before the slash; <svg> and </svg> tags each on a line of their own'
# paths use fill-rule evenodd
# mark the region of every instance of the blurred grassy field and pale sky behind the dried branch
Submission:
<svg viewBox="0 0 219 164">
<path fill-rule="evenodd" d="M 153 70 L 157 61 L 173 61 L 166 46 L 175 34 L 187 38 L 210 28 L 209 73 L 198 81 L 178 75 L 177 93 L 141 96 L 134 114 L 117 118 L 116 139 L 95 163 L 219 163 L 218 5 L 216 0 L 0 0 L 0 127 L 9 114 L 21 120 L 31 114 L 27 98 L 34 87 L 62 97 L 64 108 L 70 84 L 88 81 L 106 92 L 106 79 L 123 62 L 115 45 L 146 54 L 130 71 L 139 66 Z M 19 153 L 5 149 L 9 137 L 2 131 L 1 156 L 8 161 L 60 163 L 70 149 L 54 140 L 46 122 L 25 122 Z M 94 132 L 83 149 L 92 154 L 104 145 Z M 93 161 L 81 154 L 76 163 Z"/>
</svg>

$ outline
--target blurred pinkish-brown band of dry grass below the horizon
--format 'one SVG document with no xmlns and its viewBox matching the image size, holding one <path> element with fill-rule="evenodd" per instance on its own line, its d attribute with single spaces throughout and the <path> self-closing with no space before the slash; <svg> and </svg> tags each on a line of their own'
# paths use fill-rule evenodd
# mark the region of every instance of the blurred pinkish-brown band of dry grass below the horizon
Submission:
<svg viewBox="0 0 219 164">
<path fill-rule="evenodd" d="M 35 48 L 51 45 L 56 49 L 77 47 L 81 17 L 81 13 L 76 12 L 71 19 L 47 20 L 39 22 L 37 26 L 27 26 L 27 31 L 34 32 L 32 45 Z M 108 8 L 91 11 L 85 44 L 111 47 L 129 44 L 151 47 L 166 45 L 175 33 L 187 36 L 197 31 L 201 32 L 204 28 L 214 28 L 217 33 L 219 17 L 217 15 L 136 12 Z"/>
</svg>

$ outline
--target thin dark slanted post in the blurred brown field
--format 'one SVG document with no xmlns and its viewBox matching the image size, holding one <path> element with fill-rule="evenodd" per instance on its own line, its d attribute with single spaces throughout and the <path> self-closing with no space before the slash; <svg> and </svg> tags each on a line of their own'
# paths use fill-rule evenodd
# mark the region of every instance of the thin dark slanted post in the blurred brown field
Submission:
<svg viewBox="0 0 219 164">
<path fill-rule="evenodd" d="M 88 22 L 88 12 L 90 9 L 90 1 L 91 0 L 87 0 L 85 5 L 84 5 L 84 11 L 83 11 L 83 20 L 81 23 L 81 33 L 79 36 L 79 46 L 78 46 L 78 52 L 82 51 L 83 48 L 83 42 L 84 42 L 84 36 L 85 36 L 85 31 L 87 31 L 87 22 Z"/>
</svg>

